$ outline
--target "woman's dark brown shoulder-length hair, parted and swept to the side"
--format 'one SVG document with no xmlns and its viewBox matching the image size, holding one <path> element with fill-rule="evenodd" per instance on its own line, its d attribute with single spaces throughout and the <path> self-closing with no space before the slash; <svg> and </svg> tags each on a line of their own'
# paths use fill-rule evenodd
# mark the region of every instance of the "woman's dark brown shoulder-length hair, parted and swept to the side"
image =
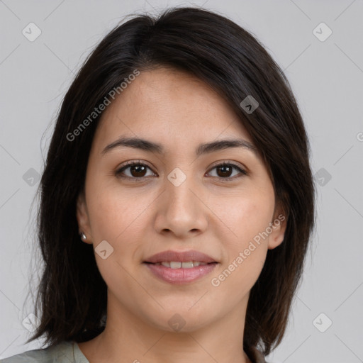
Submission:
<svg viewBox="0 0 363 363">
<path fill-rule="evenodd" d="M 96 46 L 69 87 L 39 186 L 37 228 L 44 270 L 35 315 L 40 325 L 27 342 L 42 335 L 49 345 L 84 342 L 104 330 L 107 286 L 92 245 L 79 239 L 76 219 L 101 115 L 74 140 L 67 135 L 135 69 L 160 66 L 193 74 L 228 101 L 262 155 L 284 208 L 284 242 L 267 252 L 250 291 L 244 328 L 243 349 L 258 347 L 267 355 L 284 336 L 313 232 L 308 138 L 289 82 L 259 41 L 225 16 L 199 8 L 167 9 L 157 18 L 133 15 Z M 259 103 L 252 113 L 240 106 L 249 95 Z"/>
</svg>

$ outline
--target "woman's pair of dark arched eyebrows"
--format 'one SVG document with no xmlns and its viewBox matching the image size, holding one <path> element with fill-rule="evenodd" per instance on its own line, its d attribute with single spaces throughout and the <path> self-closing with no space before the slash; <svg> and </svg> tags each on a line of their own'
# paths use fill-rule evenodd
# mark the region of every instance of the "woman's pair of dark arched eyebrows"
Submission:
<svg viewBox="0 0 363 363">
<path fill-rule="evenodd" d="M 164 155 L 165 150 L 164 147 L 160 144 L 153 143 L 149 140 L 144 140 L 142 138 L 126 138 L 122 137 L 118 138 L 118 140 L 113 141 L 113 143 L 107 145 L 104 150 L 102 150 L 101 154 L 105 155 L 107 152 L 118 148 L 118 147 L 133 147 L 134 149 L 140 149 L 146 152 L 152 152 L 159 155 Z M 209 154 L 211 152 L 216 152 L 218 150 L 225 150 L 233 147 L 242 147 L 246 150 L 252 151 L 256 156 L 258 156 L 257 147 L 247 140 L 237 139 L 237 138 L 228 138 L 225 140 L 217 140 L 212 141 L 211 143 L 203 143 L 200 144 L 196 148 L 196 156 L 200 156 L 203 154 Z"/>
</svg>

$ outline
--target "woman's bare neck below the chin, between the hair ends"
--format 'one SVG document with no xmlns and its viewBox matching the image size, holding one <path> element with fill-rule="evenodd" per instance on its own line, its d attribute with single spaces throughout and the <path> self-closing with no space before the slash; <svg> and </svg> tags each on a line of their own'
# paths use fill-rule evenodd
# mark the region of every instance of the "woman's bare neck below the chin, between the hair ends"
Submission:
<svg viewBox="0 0 363 363">
<path fill-rule="evenodd" d="M 109 296 L 104 332 L 79 348 L 89 363 L 250 363 L 242 348 L 247 300 L 209 325 L 168 331 L 145 323 Z"/>
</svg>

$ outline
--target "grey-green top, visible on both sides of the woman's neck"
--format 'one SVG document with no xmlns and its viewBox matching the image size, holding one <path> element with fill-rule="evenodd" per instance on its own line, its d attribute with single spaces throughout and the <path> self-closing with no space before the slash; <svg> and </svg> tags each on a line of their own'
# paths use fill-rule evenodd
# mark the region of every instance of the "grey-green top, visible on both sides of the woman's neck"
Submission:
<svg viewBox="0 0 363 363">
<path fill-rule="evenodd" d="M 255 349 L 252 363 L 267 363 L 259 350 Z M 52 347 L 28 350 L 9 358 L 0 359 L 0 363 L 89 363 L 79 349 L 77 342 L 63 341 Z"/>
</svg>

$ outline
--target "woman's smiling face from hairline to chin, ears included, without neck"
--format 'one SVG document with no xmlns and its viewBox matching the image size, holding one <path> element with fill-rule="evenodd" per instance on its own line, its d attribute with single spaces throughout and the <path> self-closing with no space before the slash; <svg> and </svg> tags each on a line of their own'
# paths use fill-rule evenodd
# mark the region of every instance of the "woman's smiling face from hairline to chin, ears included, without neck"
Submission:
<svg viewBox="0 0 363 363">
<path fill-rule="evenodd" d="M 160 150 L 104 151 L 119 138 Z M 196 153 L 231 139 L 243 145 Z M 127 311 L 162 330 L 180 320 L 192 331 L 241 313 L 267 250 L 284 238 L 284 216 L 250 135 L 215 91 L 177 70 L 141 72 L 106 108 L 84 190 L 77 220 L 108 286 L 108 313 Z M 190 253 L 152 259 L 165 251 Z M 196 252 L 208 264 L 191 267 L 192 259 L 203 262 Z"/>
</svg>

